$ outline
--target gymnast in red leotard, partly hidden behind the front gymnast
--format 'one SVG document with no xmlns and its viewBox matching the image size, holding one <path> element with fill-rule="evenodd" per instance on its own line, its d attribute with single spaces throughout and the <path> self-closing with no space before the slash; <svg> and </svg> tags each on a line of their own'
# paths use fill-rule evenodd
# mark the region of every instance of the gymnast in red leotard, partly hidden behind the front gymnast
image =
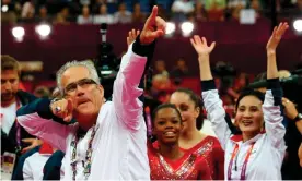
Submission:
<svg viewBox="0 0 302 181">
<path fill-rule="evenodd" d="M 204 124 L 202 101 L 190 89 L 179 88 L 170 98 L 182 114 L 184 129 L 179 136 L 179 147 L 188 154 L 204 157 L 213 180 L 224 179 L 224 153 L 219 141 L 200 132 Z"/>
</svg>

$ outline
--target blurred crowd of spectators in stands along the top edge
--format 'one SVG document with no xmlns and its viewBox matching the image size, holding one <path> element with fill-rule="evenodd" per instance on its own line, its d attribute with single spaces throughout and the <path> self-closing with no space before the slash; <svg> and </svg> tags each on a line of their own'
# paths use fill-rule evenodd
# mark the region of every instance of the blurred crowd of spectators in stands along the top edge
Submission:
<svg viewBox="0 0 302 181">
<path fill-rule="evenodd" d="M 267 0 L 1 0 L 1 22 L 48 22 L 56 24 L 142 23 L 150 7 L 171 21 L 239 21 L 244 14 L 269 17 Z M 248 10 L 248 11 L 246 11 Z M 302 0 L 276 0 L 281 17 L 302 14 Z"/>
</svg>

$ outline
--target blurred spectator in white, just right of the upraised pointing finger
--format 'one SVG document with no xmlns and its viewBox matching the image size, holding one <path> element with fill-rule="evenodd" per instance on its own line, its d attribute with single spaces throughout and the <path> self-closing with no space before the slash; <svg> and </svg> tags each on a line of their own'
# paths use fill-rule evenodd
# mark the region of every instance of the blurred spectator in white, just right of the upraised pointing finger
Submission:
<svg viewBox="0 0 302 181">
<path fill-rule="evenodd" d="M 194 12 L 194 2 L 190 0 L 175 0 L 172 4 L 171 11 L 174 21 L 186 21 L 187 15 Z"/>
</svg>

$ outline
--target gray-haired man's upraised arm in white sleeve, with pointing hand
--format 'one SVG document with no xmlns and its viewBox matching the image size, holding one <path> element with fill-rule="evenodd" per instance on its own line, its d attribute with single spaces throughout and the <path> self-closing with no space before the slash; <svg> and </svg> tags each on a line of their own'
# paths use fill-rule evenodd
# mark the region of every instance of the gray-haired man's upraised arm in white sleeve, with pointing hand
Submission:
<svg viewBox="0 0 302 181">
<path fill-rule="evenodd" d="M 127 53 L 123 57 L 120 70 L 114 83 L 113 102 L 116 114 L 130 130 L 139 130 L 143 123 L 142 101 L 139 96 L 142 89 L 139 88 L 148 57 L 154 50 L 154 40 L 164 35 L 165 21 L 158 16 L 158 7 L 153 7 L 141 34 L 136 41 L 128 47 Z"/>
</svg>

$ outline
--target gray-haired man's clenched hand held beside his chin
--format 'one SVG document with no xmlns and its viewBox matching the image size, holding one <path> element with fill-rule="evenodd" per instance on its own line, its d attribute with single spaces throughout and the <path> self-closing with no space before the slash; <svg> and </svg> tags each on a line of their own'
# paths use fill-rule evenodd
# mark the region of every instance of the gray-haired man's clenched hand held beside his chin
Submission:
<svg viewBox="0 0 302 181">
<path fill-rule="evenodd" d="M 72 119 L 73 104 L 70 99 L 60 99 L 50 104 L 51 112 L 59 118 L 62 118 L 65 122 L 70 122 Z"/>
</svg>

